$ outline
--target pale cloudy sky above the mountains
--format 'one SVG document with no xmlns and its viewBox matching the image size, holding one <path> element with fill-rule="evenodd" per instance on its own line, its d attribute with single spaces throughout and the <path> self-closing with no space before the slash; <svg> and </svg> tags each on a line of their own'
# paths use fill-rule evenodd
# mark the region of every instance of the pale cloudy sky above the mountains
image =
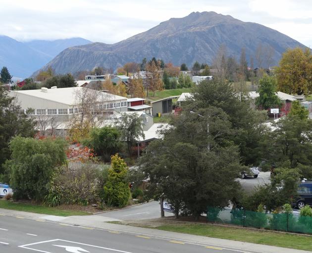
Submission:
<svg viewBox="0 0 312 253">
<path fill-rule="evenodd" d="M 311 0 L 0 0 L 0 35 L 114 43 L 193 11 L 259 23 L 312 47 Z"/>
</svg>

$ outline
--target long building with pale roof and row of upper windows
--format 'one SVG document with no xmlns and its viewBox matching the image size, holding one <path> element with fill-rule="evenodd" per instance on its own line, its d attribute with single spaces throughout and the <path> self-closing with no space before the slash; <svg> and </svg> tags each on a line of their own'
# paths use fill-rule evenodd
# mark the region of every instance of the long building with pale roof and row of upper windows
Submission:
<svg viewBox="0 0 312 253">
<path fill-rule="evenodd" d="M 82 104 L 86 103 L 88 98 L 89 100 L 93 98 L 92 103 L 90 101 L 88 103 L 90 110 L 94 110 L 97 114 L 127 111 L 126 97 L 85 87 L 18 90 L 10 91 L 9 95 L 16 98 L 25 113 L 38 116 L 57 115 L 58 121 L 61 122 L 69 121 L 75 114 L 81 113 Z"/>
</svg>

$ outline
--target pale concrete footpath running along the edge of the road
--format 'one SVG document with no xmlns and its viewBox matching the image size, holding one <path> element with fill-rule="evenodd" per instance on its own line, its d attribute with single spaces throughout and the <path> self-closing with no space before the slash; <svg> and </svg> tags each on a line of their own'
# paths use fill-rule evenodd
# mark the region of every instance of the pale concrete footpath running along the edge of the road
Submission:
<svg viewBox="0 0 312 253">
<path fill-rule="evenodd" d="M 279 248 L 275 246 L 267 246 L 261 244 L 245 243 L 239 241 L 231 241 L 226 239 L 211 238 L 205 236 L 189 235 L 176 232 L 169 232 L 151 228 L 141 228 L 128 225 L 120 225 L 107 223 L 108 221 L 119 221 L 118 219 L 104 217 L 100 215 L 84 215 L 84 216 L 54 216 L 24 211 L 12 211 L 0 209 L 0 215 L 17 216 L 29 219 L 44 220 L 50 222 L 59 222 L 75 226 L 84 226 L 95 229 L 116 231 L 120 233 L 148 236 L 159 239 L 169 239 L 173 241 L 182 241 L 185 243 L 209 245 L 228 250 L 239 251 L 243 253 L 311 253 L 311 251 L 300 251 L 287 248 Z M 1 217 L 0 217 L 1 218 Z"/>
</svg>

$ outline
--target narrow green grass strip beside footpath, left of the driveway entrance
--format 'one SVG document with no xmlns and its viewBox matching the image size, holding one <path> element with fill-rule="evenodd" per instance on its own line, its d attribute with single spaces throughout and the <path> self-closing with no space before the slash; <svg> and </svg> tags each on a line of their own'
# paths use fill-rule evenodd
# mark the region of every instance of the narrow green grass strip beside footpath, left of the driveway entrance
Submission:
<svg viewBox="0 0 312 253">
<path fill-rule="evenodd" d="M 71 216 L 71 215 L 90 215 L 88 212 L 75 211 L 75 210 L 61 210 L 59 208 L 49 208 L 40 205 L 31 205 L 24 203 L 14 203 L 6 200 L 0 200 L 0 208 L 15 210 L 15 211 L 28 211 L 35 213 L 43 213 L 57 216 Z"/>
</svg>

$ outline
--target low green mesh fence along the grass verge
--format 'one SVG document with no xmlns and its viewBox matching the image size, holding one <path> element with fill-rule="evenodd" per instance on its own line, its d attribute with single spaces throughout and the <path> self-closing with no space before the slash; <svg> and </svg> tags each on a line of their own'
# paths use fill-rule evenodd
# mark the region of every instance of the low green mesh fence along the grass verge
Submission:
<svg viewBox="0 0 312 253">
<path fill-rule="evenodd" d="M 312 234 L 312 217 L 292 213 L 262 213 L 240 209 L 207 208 L 207 221 L 243 227 Z"/>
</svg>

